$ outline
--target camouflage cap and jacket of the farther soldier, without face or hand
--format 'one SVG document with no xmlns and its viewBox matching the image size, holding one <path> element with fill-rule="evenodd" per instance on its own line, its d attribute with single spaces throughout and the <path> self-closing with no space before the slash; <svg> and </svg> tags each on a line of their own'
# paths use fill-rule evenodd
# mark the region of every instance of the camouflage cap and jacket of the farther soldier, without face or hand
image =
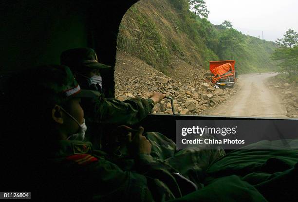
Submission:
<svg viewBox="0 0 298 202">
<path fill-rule="evenodd" d="M 154 106 L 151 99 L 134 98 L 124 102 L 113 98 L 105 98 L 101 86 L 90 83 L 89 77 L 80 71 L 110 69 L 111 66 L 99 63 L 92 48 L 75 48 L 64 51 L 61 64 L 70 67 L 77 73 L 76 80 L 82 89 L 98 91 L 98 100 L 83 100 L 83 109 L 86 117 L 95 123 L 109 123 L 115 125 L 133 125 L 145 118 Z M 96 76 L 96 75 L 93 75 Z M 97 75 L 99 76 L 99 75 Z M 100 81 L 101 82 L 101 81 Z"/>
</svg>

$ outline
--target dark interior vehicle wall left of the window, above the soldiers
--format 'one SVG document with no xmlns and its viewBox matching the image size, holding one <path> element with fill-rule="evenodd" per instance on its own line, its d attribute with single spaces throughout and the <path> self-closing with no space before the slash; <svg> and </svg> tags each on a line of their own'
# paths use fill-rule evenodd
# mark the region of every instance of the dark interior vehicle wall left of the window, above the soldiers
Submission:
<svg viewBox="0 0 298 202">
<path fill-rule="evenodd" d="M 1 1 L 0 73 L 59 64 L 62 51 L 92 47 L 99 62 L 115 65 L 118 27 L 138 0 Z M 114 69 L 103 75 L 103 88 L 114 96 Z"/>
</svg>

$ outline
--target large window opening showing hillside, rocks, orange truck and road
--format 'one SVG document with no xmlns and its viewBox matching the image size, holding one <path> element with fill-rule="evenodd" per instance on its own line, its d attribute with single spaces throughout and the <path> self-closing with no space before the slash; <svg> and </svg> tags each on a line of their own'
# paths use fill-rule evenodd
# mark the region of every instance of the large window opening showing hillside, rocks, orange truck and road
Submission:
<svg viewBox="0 0 298 202">
<path fill-rule="evenodd" d="M 119 27 L 115 97 L 162 92 L 183 115 L 298 118 L 297 6 L 140 0 Z M 170 100 L 153 113 L 172 114 Z"/>
</svg>

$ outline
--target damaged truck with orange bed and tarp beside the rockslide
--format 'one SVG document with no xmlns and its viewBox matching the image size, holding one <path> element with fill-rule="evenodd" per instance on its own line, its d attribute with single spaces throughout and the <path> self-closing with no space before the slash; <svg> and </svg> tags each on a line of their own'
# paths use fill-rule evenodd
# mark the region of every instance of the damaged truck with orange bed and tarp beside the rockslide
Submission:
<svg viewBox="0 0 298 202">
<path fill-rule="evenodd" d="M 220 88 L 234 88 L 237 80 L 237 71 L 235 68 L 235 60 L 210 61 L 209 69 L 213 74 L 212 83 Z"/>
</svg>

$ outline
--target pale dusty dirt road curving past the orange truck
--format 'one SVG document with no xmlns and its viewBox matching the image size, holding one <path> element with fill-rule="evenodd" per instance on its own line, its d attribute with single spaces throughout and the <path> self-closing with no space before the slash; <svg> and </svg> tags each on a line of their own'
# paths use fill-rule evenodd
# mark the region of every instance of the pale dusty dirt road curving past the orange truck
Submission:
<svg viewBox="0 0 298 202">
<path fill-rule="evenodd" d="M 266 79 L 276 73 L 239 75 L 237 93 L 225 103 L 206 111 L 205 115 L 242 117 L 287 117 L 286 109 L 276 92 L 265 85 Z"/>
</svg>

